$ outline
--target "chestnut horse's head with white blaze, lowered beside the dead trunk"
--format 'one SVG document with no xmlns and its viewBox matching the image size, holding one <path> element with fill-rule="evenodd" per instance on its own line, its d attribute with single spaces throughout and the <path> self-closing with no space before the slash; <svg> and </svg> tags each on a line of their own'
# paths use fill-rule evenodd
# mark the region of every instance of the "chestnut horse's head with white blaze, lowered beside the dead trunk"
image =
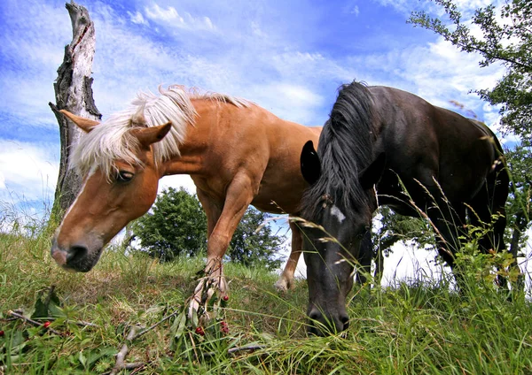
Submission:
<svg viewBox="0 0 532 375">
<path fill-rule="evenodd" d="M 112 136 L 98 134 L 106 131 L 105 124 L 62 112 L 87 133 L 74 153 L 78 164 L 86 158 L 79 168 L 84 176 L 82 189 L 59 226 L 51 256 L 63 268 L 88 272 L 98 263 L 104 245 L 155 201 L 161 176 L 153 143 L 168 134 L 171 123 L 147 127 L 139 111 L 128 119 L 129 129 L 121 136 L 126 141 L 119 146 L 113 145 L 118 140 Z M 106 148 L 101 149 L 100 143 L 105 142 Z M 109 155 L 113 147 L 127 152 Z M 102 158 L 107 158 L 105 163 Z"/>
</svg>

